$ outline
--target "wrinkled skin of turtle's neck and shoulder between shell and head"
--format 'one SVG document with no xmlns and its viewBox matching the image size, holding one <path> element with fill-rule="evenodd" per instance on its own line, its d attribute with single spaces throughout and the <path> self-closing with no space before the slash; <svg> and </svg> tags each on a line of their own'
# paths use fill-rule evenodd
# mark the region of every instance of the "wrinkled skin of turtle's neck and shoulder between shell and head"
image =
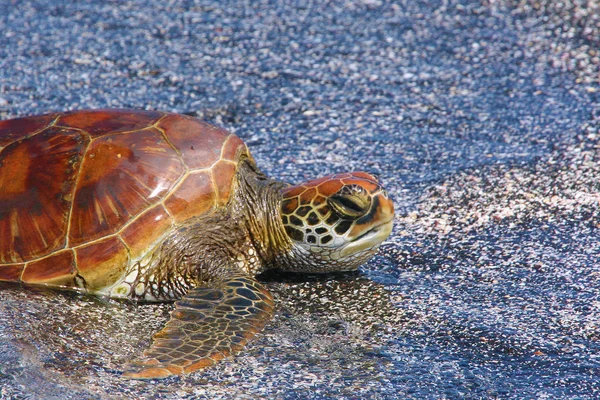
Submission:
<svg viewBox="0 0 600 400">
<path fill-rule="evenodd" d="M 134 299 L 180 298 L 190 287 L 217 284 L 232 274 L 259 274 L 274 268 L 292 242 L 281 220 L 283 183 L 262 174 L 250 160 L 241 160 L 234 198 L 215 210 L 179 227 L 143 262 L 136 262 L 131 288 L 142 284 L 143 293 L 130 290 Z"/>
</svg>

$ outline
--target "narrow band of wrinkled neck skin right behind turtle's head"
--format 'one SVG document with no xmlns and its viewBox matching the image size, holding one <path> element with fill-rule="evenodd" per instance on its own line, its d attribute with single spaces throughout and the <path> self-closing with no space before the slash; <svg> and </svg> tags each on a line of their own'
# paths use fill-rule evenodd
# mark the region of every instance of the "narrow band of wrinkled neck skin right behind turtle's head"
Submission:
<svg viewBox="0 0 600 400">
<path fill-rule="evenodd" d="M 267 178 L 248 160 L 240 161 L 237 176 L 233 219 L 236 224 L 243 223 L 250 245 L 258 254 L 261 262 L 252 272 L 259 274 L 275 268 L 281 254 L 292 249 L 281 220 L 281 189 L 285 184 Z"/>
</svg>

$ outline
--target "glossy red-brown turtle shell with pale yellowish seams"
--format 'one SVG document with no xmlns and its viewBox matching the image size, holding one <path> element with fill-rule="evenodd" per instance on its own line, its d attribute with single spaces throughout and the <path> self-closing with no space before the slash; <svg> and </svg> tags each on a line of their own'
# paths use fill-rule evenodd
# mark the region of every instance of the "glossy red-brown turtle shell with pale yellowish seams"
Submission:
<svg viewBox="0 0 600 400">
<path fill-rule="evenodd" d="M 0 121 L 0 280 L 101 289 L 161 237 L 224 207 L 234 134 L 177 114 L 92 110 Z"/>
</svg>

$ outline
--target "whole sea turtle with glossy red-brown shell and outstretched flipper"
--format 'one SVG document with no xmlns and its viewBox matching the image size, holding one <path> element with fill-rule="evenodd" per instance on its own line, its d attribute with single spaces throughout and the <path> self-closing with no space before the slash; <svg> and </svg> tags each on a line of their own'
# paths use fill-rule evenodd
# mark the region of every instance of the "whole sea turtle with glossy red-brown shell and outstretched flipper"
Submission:
<svg viewBox="0 0 600 400">
<path fill-rule="evenodd" d="M 239 352 L 273 315 L 267 269 L 354 270 L 392 229 L 365 172 L 286 185 L 184 115 L 85 110 L 0 122 L 0 280 L 177 300 L 129 378 Z"/>
</svg>

